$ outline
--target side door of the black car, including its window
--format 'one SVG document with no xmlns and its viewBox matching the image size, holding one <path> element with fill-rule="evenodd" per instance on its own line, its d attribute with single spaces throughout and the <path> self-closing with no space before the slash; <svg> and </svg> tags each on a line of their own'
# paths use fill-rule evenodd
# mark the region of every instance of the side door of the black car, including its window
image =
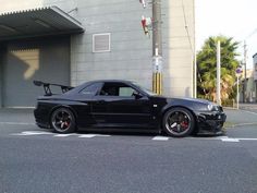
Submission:
<svg viewBox="0 0 257 193">
<path fill-rule="evenodd" d="M 105 83 L 98 99 L 106 107 L 109 125 L 146 128 L 151 124 L 150 100 L 125 83 Z"/>
</svg>

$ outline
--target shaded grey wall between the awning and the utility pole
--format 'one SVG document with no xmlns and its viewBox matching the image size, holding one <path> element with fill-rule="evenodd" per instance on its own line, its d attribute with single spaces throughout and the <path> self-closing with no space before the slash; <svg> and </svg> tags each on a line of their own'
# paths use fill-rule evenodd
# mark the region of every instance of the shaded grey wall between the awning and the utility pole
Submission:
<svg viewBox="0 0 257 193">
<path fill-rule="evenodd" d="M 78 1 L 77 17 L 86 33 L 72 38 L 72 83 L 97 79 L 125 79 L 151 87 L 151 38 L 140 17 L 151 15 L 138 1 Z M 111 51 L 93 53 L 93 34 L 111 33 Z"/>
</svg>

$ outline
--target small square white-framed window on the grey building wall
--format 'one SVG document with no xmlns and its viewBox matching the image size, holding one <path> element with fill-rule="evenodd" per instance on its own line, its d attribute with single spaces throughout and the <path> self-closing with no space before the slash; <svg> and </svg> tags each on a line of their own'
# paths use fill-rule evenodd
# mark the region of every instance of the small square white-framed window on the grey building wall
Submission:
<svg viewBox="0 0 257 193">
<path fill-rule="evenodd" d="M 111 34 L 94 34 L 93 35 L 93 52 L 111 51 Z"/>
</svg>

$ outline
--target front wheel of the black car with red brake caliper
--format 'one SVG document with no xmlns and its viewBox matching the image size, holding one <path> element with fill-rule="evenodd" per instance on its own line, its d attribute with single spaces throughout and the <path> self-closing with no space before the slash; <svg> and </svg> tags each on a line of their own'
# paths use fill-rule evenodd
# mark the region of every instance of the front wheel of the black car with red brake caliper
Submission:
<svg viewBox="0 0 257 193">
<path fill-rule="evenodd" d="M 162 128 L 170 136 L 188 136 L 195 129 L 195 119 L 187 109 L 173 108 L 166 112 L 162 120 Z"/>
</svg>

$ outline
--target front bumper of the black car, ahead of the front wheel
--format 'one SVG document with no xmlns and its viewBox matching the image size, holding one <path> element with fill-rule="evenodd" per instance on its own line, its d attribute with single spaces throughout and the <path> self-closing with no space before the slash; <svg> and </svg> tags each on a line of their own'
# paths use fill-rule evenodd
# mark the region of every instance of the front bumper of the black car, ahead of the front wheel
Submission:
<svg viewBox="0 0 257 193">
<path fill-rule="evenodd" d="M 213 112 L 198 112 L 197 113 L 197 134 L 223 134 L 222 128 L 227 116 L 221 111 Z"/>
</svg>

